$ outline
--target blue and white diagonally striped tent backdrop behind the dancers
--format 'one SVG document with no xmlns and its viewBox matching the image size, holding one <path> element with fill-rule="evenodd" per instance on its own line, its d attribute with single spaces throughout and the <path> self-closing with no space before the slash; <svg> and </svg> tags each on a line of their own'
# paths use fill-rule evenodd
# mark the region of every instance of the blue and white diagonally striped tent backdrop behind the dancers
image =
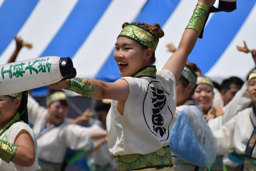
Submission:
<svg viewBox="0 0 256 171">
<path fill-rule="evenodd" d="M 16 61 L 43 56 L 71 57 L 78 77 L 115 81 L 120 78 L 113 60 L 114 43 L 124 22 L 159 23 L 165 31 L 156 50 L 157 69 L 172 55 L 167 44 L 178 46 L 197 0 L 0 0 L 0 64 L 15 49 L 14 34 L 33 43 L 22 48 Z M 215 7 L 218 1 L 215 3 Z M 245 79 L 254 67 L 251 54 L 238 52 L 246 41 L 256 49 L 256 0 L 238 0 L 231 13 L 211 14 L 204 38 L 188 60 L 212 80 L 229 76 Z M 45 88 L 34 91 L 46 95 Z"/>
</svg>

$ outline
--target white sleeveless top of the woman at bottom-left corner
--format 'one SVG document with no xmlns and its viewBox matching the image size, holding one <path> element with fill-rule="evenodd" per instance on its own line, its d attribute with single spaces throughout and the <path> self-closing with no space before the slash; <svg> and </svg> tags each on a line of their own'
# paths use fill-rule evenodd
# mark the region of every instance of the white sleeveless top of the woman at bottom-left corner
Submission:
<svg viewBox="0 0 256 171">
<path fill-rule="evenodd" d="M 30 167 L 21 167 L 21 166 L 18 166 L 16 164 L 12 163 L 12 161 L 10 161 L 10 163 L 8 164 L 5 161 L 0 159 L 0 170 L 1 171 L 36 171 L 37 170 L 37 167 L 38 167 L 37 140 L 35 139 L 35 134 L 34 134 L 33 130 L 29 127 L 29 125 L 27 125 L 23 121 L 16 122 L 9 128 L 6 136 L 4 137 L 7 130 L 0 136 L 0 138 L 2 139 L 4 137 L 4 139 L 3 139 L 4 141 L 14 143 L 15 137 L 22 129 L 27 130 L 27 132 L 29 132 L 31 138 L 34 141 L 34 148 L 35 148 L 34 164 Z"/>
</svg>

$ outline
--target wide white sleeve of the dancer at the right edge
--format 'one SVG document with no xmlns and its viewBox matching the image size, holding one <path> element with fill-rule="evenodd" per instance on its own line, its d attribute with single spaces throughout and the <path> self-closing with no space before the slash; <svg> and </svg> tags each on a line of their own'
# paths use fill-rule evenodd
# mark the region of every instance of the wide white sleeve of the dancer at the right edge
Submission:
<svg viewBox="0 0 256 171">
<path fill-rule="evenodd" d="M 215 138 L 221 140 L 221 144 L 218 148 L 218 155 L 223 155 L 234 151 L 234 129 L 236 126 L 237 118 L 238 115 L 225 123 L 221 129 L 213 132 Z"/>
</svg>

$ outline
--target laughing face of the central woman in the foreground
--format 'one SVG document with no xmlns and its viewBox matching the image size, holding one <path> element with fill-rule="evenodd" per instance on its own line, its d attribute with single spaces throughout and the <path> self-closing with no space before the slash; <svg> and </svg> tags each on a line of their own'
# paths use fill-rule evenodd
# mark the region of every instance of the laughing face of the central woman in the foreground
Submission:
<svg viewBox="0 0 256 171">
<path fill-rule="evenodd" d="M 117 38 L 114 60 L 117 62 L 120 75 L 133 76 L 139 69 L 150 65 L 151 56 L 147 57 L 147 51 L 129 38 Z"/>
</svg>

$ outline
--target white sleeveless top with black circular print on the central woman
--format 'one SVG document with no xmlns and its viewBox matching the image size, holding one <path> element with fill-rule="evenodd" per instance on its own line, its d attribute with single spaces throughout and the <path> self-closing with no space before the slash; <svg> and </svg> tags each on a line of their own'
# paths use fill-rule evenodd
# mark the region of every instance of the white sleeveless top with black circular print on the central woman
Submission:
<svg viewBox="0 0 256 171">
<path fill-rule="evenodd" d="M 129 83 L 130 88 L 124 115 L 118 112 L 117 101 L 112 100 L 107 116 L 109 151 L 114 155 L 133 153 L 144 155 L 169 144 L 169 131 L 176 109 L 176 80 L 169 70 L 161 70 L 156 75 L 157 79 L 150 77 L 122 78 Z M 159 110 L 161 113 L 159 118 L 152 118 L 156 116 L 153 115 L 153 109 L 160 109 L 157 105 L 153 106 L 153 103 L 156 103 L 153 101 L 156 100 L 156 96 L 154 96 L 155 91 L 152 87 L 157 91 L 157 103 L 163 107 L 161 111 Z M 160 104 L 164 101 L 160 98 L 165 98 L 165 103 Z M 154 125 L 153 120 L 159 125 Z M 156 132 L 154 128 L 159 130 Z M 166 132 L 161 136 L 159 133 L 164 129 Z"/>
</svg>

